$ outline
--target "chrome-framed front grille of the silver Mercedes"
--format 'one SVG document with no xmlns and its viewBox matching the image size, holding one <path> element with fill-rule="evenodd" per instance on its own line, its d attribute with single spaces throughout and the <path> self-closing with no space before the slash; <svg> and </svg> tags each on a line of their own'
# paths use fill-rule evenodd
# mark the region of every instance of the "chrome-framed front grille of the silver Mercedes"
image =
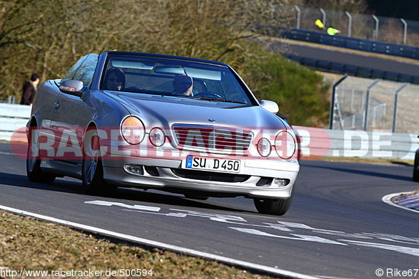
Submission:
<svg viewBox="0 0 419 279">
<path fill-rule="evenodd" d="M 177 124 L 172 129 L 177 145 L 197 149 L 245 151 L 253 138 L 250 131 L 218 126 Z"/>
</svg>

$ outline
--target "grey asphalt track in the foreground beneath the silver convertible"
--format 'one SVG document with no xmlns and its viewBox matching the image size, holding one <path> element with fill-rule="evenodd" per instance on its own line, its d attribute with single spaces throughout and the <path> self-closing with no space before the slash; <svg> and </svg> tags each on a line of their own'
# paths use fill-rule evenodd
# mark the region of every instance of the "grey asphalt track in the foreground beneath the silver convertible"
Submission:
<svg viewBox="0 0 419 279">
<path fill-rule="evenodd" d="M 318 278 L 379 278 L 378 269 L 419 278 L 419 214 L 381 200 L 418 190 L 411 174 L 404 165 L 303 160 L 293 205 L 277 217 L 242 197 L 119 188 L 109 198 L 86 195 L 75 179 L 31 183 L 25 160 L 1 143 L 0 205 Z"/>
</svg>

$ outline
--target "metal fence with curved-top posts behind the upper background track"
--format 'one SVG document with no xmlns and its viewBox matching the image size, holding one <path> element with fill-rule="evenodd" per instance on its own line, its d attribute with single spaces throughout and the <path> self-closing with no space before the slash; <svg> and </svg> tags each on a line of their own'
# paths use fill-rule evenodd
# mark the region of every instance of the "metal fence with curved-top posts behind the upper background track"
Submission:
<svg viewBox="0 0 419 279">
<path fill-rule="evenodd" d="M 284 9 L 284 7 L 281 8 Z M 419 22 L 415 20 L 299 6 L 287 6 L 286 10 L 291 15 L 288 21 L 288 27 L 291 28 L 325 31 L 332 26 L 340 30 L 342 36 L 399 45 L 419 45 Z M 324 29 L 316 25 L 316 20 L 323 23 Z"/>
</svg>

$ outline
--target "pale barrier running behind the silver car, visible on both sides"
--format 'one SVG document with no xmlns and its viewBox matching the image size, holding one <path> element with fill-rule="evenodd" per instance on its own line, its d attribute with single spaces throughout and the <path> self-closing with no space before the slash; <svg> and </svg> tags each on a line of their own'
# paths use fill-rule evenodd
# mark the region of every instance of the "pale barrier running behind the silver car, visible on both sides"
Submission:
<svg viewBox="0 0 419 279">
<path fill-rule="evenodd" d="M 31 108 L 25 105 L 0 104 L 0 140 L 26 142 L 25 129 Z M 330 130 L 294 126 L 302 160 L 324 156 L 388 158 L 413 160 L 419 149 L 418 135 L 365 132 L 362 130 Z M 16 134 L 17 133 L 17 134 Z"/>
</svg>

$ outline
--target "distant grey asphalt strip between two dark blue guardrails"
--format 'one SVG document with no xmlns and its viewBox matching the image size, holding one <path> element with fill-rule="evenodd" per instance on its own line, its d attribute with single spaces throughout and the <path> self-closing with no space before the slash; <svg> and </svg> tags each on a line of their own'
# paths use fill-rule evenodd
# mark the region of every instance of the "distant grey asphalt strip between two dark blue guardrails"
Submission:
<svg viewBox="0 0 419 279">
<path fill-rule="evenodd" d="M 293 41 L 286 41 L 286 43 L 274 41 L 270 43 L 269 49 L 310 59 L 344 63 L 346 65 L 390 71 L 404 75 L 419 75 L 419 61 L 415 63 L 397 59 L 383 59 L 383 55 L 372 56 L 369 52 L 362 54 L 362 52 L 351 52 L 345 48 L 333 47 L 328 49 L 321 47 L 321 45 L 304 45 Z"/>
</svg>

